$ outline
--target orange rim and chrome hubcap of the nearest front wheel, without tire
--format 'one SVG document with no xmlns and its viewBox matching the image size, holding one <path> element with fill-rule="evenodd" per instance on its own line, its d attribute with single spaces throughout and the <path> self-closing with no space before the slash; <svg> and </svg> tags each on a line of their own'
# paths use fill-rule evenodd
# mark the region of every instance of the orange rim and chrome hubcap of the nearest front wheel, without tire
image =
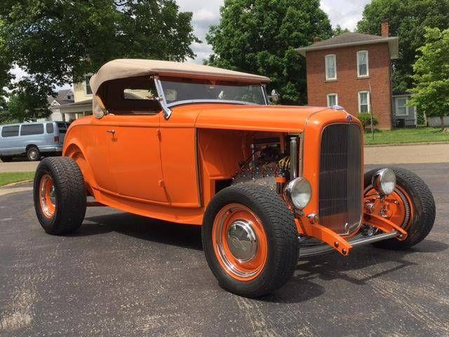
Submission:
<svg viewBox="0 0 449 337">
<path fill-rule="evenodd" d="M 242 204 L 226 205 L 217 213 L 212 242 L 218 262 L 234 279 L 254 279 L 267 262 L 268 240 L 262 222 Z"/>
</svg>

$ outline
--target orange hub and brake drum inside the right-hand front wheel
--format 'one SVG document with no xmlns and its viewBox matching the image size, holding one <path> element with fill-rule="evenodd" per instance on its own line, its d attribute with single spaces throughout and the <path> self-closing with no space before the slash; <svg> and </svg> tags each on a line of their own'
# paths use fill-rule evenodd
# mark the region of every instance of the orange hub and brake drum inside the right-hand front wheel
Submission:
<svg viewBox="0 0 449 337">
<path fill-rule="evenodd" d="M 387 218 L 396 225 L 407 230 L 413 220 L 413 203 L 408 193 L 400 186 L 395 187 L 394 192 L 382 200 L 376 190 L 368 187 L 364 197 L 365 207 L 368 213 L 374 213 Z"/>
</svg>

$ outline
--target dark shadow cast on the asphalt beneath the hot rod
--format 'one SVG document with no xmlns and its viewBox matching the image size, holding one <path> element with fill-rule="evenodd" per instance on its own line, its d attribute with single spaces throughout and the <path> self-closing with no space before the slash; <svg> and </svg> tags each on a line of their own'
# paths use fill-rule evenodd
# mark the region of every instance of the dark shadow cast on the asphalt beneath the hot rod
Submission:
<svg viewBox="0 0 449 337">
<path fill-rule="evenodd" d="M 79 230 L 70 235 L 84 237 L 108 232 L 121 234 L 188 249 L 202 250 L 201 227 L 180 225 L 153 220 L 129 213 L 112 213 L 86 218 Z M 258 298 L 264 302 L 301 303 L 326 293 L 326 287 L 318 282 L 344 280 L 354 286 L 364 286 L 372 279 L 389 275 L 417 263 L 406 260 L 410 253 L 438 253 L 449 248 L 448 244 L 424 239 L 406 251 L 390 251 L 373 246 L 354 249 L 350 256 L 342 257 L 332 252 L 319 256 L 300 258 L 295 275 L 278 291 Z M 373 266 L 376 268 L 371 268 Z M 375 269 L 375 271 L 370 271 Z M 356 272 L 363 270 L 363 272 Z"/>
</svg>

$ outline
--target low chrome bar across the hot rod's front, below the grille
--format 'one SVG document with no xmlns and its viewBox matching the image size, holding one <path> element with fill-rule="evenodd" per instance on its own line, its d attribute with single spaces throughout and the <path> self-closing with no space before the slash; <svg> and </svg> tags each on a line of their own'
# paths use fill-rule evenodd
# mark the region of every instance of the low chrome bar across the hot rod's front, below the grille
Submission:
<svg viewBox="0 0 449 337">
<path fill-rule="evenodd" d="M 393 230 L 389 233 L 382 233 L 373 235 L 371 237 L 363 237 L 357 236 L 352 239 L 349 239 L 348 242 L 352 247 L 363 246 L 365 244 L 373 244 L 374 242 L 379 242 L 382 240 L 393 239 L 397 237 L 398 232 Z M 310 243 L 309 239 L 304 239 L 302 237 L 298 237 L 301 240 L 300 242 L 300 258 L 304 258 L 307 256 L 315 256 L 321 255 L 324 253 L 330 253 L 331 251 L 335 251 L 333 246 L 329 246 L 323 242 L 313 242 Z"/>
</svg>

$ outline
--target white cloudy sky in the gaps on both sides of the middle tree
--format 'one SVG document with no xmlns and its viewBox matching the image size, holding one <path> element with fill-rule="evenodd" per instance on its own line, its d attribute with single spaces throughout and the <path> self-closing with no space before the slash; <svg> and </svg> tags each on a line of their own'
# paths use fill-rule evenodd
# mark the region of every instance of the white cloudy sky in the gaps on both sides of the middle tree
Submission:
<svg viewBox="0 0 449 337">
<path fill-rule="evenodd" d="M 321 9 L 328 13 L 333 27 L 340 25 L 351 31 L 356 29 L 357 22 L 362 18 L 363 8 L 370 0 L 321 0 Z M 210 25 L 220 22 L 220 6 L 224 0 L 177 0 L 180 11 L 193 12 L 192 24 L 194 32 L 203 44 L 192 44 L 196 53 L 194 62 L 201 63 L 212 53 L 212 47 L 206 43 L 206 34 Z"/>
</svg>

